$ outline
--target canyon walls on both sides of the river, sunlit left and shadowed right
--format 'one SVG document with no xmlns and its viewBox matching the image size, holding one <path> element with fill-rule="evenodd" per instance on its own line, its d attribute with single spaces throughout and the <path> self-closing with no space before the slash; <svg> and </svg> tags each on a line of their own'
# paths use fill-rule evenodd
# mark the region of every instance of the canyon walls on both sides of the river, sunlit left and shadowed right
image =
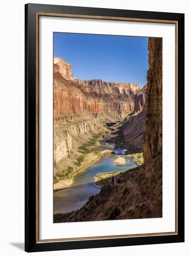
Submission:
<svg viewBox="0 0 189 256">
<path fill-rule="evenodd" d="M 120 174 L 118 184 L 107 178 L 100 193 L 81 209 L 55 215 L 55 222 L 162 216 L 162 39 L 149 38 L 148 50 L 142 89 L 78 80 L 69 63 L 54 57 L 54 189 L 68 187 L 76 173 L 101 158 L 87 151 L 109 133 L 109 123 L 118 126 L 107 141 L 144 157 L 143 165 Z"/>
</svg>

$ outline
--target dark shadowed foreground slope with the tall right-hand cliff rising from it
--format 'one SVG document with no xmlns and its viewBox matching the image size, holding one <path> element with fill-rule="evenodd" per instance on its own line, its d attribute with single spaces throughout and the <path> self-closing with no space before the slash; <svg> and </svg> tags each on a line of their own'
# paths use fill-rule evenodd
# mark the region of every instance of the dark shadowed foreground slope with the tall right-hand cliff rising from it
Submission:
<svg viewBox="0 0 189 256">
<path fill-rule="evenodd" d="M 81 209 L 55 222 L 162 217 L 162 39 L 149 38 L 144 165 L 107 184 Z"/>
</svg>

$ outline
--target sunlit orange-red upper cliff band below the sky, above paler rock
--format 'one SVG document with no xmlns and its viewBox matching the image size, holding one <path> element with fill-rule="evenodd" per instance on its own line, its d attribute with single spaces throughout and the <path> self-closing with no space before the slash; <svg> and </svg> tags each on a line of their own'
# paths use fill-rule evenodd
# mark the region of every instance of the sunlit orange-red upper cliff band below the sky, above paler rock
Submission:
<svg viewBox="0 0 189 256">
<path fill-rule="evenodd" d="M 78 80 L 69 63 L 54 58 L 54 116 L 57 120 L 65 114 L 106 113 L 116 119 L 124 118 L 133 111 L 133 97 L 139 89 L 139 84 Z"/>
</svg>

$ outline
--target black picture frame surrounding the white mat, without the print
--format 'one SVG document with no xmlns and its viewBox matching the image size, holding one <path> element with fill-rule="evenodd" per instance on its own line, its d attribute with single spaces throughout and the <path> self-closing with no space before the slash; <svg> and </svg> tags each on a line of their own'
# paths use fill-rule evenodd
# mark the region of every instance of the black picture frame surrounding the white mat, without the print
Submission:
<svg viewBox="0 0 189 256">
<path fill-rule="evenodd" d="M 177 232 L 171 235 L 104 238 L 77 241 L 38 241 L 38 150 L 36 124 L 38 125 L 36 94 L 36 17 L 37 13 L 87 15 L 149 20 L 174 21 L 177 25 Z M 111 234 L 110 234 L 111 235 Z M 101 248 L 128 245 L 184 242 L 184 14 L 71 7 L 56 5 L 25 5 L 25 251 L 49 251 L 66 249 Z"/>
</svg>

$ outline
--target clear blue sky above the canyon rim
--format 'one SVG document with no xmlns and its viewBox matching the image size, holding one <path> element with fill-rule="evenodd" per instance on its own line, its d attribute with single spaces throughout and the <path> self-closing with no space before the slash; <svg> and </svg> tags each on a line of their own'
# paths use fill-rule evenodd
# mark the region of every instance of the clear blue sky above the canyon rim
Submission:
<svg viewBox="0 0 189 256">
<path fill-rule="evenodd" d="M 54 56 L 72 66 L 80 80 L 146 83 L 148 38 L 54 33 Z"/>
</svg>

